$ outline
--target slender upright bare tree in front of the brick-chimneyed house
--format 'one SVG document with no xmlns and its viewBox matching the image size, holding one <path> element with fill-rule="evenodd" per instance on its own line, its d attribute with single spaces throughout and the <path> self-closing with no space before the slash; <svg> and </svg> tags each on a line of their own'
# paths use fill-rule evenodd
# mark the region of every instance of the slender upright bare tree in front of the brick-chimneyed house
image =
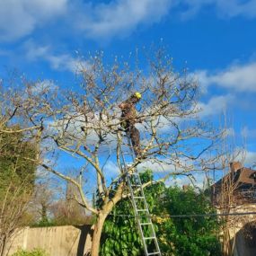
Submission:
<svg viewBox="0 0 256 256">
<path fill-rule="evenodd" d="M 224 118 L 224 131 L 227 131 L 225 115 Z M 231 256 L 234 255 L 236 232 L 250 219 L 250 216 L 235 215 L 241 210 L 246 211 L 245 209 L 248 207 L 248 199 L 243 197 L 241 191 L 246 184 L 243 183 L 246 181 L 244 177 L 248 175 L 247 170 L 250 169 L 243 167 L 246 156 L 244 148 L 236 146 L 233 136 L 227 137 L 226 132 L 223 135 L 224 137 L 217 146 L 214 163 L 217 176 L 221 179 L 212 186 L 212 199 L 221 214 L 222 253 L 225 256 Z M 249 177 L 246 178 L 246 182 L 250 182 Z M 245 187 L 247 186 L 250 186 L 250 184 L 245 185 Z"/>
</svg>

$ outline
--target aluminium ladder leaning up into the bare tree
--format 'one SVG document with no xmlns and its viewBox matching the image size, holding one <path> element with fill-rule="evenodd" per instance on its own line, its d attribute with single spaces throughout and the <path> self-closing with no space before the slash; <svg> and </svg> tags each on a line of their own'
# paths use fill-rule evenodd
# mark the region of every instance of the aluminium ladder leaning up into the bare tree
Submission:
<svg viewBox="0 0 256 256">
<path fill-rule="evenodd" d="M 131 155 L 131 159 L 134 163 L 135 154 L 133 151 L 133 147 L 128 138 L 128 148 L 129 148 L 129 156 Z M 128 165 L 125 154 L 120 150 L 120 160 L 122 161 L 122 172 L 125 173 L 125 177 L 128 182 L 128 190 L 130 193 L 130 198 L 132 202 L 132 206 L 134 208 L 135 218 L 137 221 L 137 226 L 139 230 L 140 237 L 142 239 L 144 251 L 146 256 L 150 255 L 158 255 L 162 256 L 162 253 L 159 248 L 159 244 L 154 232 L 154 225 L 151 220 L 151 216 L 148 210 L 148 206 L 146 203 L 145 194 L 143 191 L 142 183 L 139 177 L 139 173 L 137 172 L 137 168 L 134 167 L 133 170 L 128 172 Z"/>
</svg>

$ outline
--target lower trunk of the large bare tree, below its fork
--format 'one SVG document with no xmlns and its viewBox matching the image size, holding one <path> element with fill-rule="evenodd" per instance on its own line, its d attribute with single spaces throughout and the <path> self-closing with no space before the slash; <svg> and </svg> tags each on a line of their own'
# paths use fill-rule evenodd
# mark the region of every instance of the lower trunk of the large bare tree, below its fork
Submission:
<svg viewBox="0 0 256 256">
<path fill-rule="evenodd" d="M 102 227 L 104 225 L 105 219 L 108 214 L 99 214 L 97 221 L 94 225 L 93 231 L 93 243 L 92 243 L 92 253 L 91 256 L 98 256 L 100 252 L 100 242 L 102 236 Z"/>
</svg>

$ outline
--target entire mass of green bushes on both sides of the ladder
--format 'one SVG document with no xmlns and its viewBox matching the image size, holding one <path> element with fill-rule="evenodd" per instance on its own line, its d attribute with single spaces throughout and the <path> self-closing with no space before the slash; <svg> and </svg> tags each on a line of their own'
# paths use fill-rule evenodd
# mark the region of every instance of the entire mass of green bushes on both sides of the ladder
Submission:
<svg viewBox="0 0 256 256">
<path fill-rule="evenodd" d="M 141 174 L 142 182 L 152 179 L 152 172 Z M 203 193 L 154 183 L 146 188 L 145 194 L 163 255 L 221 255 L 216 216 L 168 217 L 215 213 Z M 104 224 L 101 255 L 144 255 L 133 215 L 130 199 L 121 200 Z"/>
</svg>

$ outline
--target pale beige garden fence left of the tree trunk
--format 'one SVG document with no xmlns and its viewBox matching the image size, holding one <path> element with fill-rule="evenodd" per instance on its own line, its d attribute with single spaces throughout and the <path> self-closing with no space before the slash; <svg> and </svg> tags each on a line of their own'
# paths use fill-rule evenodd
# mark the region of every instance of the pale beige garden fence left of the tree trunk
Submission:
<svg viewBox="0 0 256 256">
<path fill-rule="evenodd" d="M 31 251 L 44 249 L 50 256 L 84 256 L 91 251 L 92 225 L 64 225 L 54 227 L 26 227 L 17 232 L 7 245 L 6 256 L 18 248 Z"/>
</svg>

